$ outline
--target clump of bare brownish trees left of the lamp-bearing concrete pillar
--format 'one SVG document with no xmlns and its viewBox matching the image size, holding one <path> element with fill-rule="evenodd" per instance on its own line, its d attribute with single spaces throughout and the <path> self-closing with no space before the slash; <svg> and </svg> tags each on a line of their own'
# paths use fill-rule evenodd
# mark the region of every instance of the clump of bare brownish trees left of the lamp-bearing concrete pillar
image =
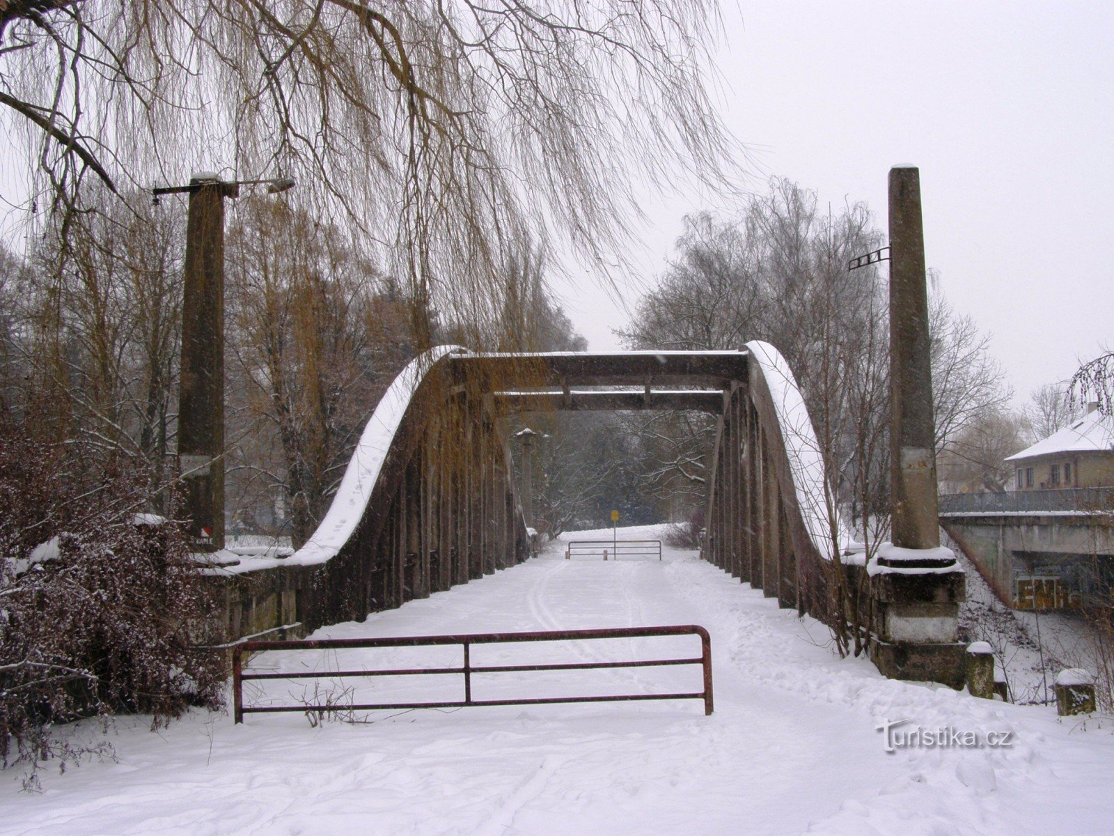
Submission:
<svg viewBox="0 0 1114 836">
<path fill-rule="evenodd" d="M 182 217 L 126 200 L 49 224 L 33 242 L 10 273 L 7 348 L 45 401 L 45 435 L 118 448 L 160 483 L 174 436 Z"/>
</svg>

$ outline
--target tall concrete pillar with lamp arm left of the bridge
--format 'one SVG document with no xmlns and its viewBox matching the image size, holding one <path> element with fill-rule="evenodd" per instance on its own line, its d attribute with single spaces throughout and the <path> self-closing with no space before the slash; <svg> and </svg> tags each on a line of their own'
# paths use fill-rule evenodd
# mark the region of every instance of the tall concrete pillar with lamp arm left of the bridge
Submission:
<svg viewBox="0 0 1114 836">
<path fill-rule="evenodd" d="M 199 172 L 186 186 L 153 188 L 188 194 L 182 303 L 182 375 L 178 389 L 178 467 L 185 487 L 189 535 L 201 551 L 224 547 L 224 198 L 241 186 L 266 184 L 277 194 L 294 187 L 281 179 L 222 181 Z"/>
</svg>

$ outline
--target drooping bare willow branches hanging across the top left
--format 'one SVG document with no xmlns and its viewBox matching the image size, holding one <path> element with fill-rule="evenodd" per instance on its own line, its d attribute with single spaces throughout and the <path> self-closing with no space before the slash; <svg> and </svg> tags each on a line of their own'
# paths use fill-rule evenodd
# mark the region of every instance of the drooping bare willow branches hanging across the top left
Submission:
<svg viewBox="0 0 1114 836">
<path fill-rule="evenodd" d="M 7 2 L 0 110 L 35 172 L 9 200 L 178 183 L 198 149 L 293 176 L 379 244 L 424 346 L 434 310 L 497 299 L 508 241 L 610 263 L 634 183 L 726 185 L 717 26 L 712 0 Z"/>
</svg>

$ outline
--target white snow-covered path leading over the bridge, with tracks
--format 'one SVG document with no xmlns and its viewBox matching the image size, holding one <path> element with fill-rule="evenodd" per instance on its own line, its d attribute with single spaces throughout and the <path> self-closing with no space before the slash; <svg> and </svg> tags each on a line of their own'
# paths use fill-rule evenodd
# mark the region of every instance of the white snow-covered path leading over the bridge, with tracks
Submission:
<svg viewBox="0 0 1114 836">
<path fill-rule="evenodd" d="M 628 536 L 645 529 L 627 529 Z M 576 536 L 589 536 L 587 533 Z M 688 624 L 712 634 L 715 713 L 700 701 L 381 712 L 311 728 L 300 715 L 195 712 L 158 735 L 118 721 L 117 762 L 48 769 L 39 795 L 0 772 L 8 834 L 1103 834 L 1114 833 L 1114 738 L 1051 709 L 882 679 L 838 660 L 825 631 L 693 553 L 662 563 L 565 561 L 556 548 L 447 593 L 317 636 Z M 673 643 L 670 643 L 673 642 Z M 622 645 L 622 647 L 618 647 Z M 695 654 L 692 636 L 587 647 L 480 648 L 495 659 Z M 362 651 L 361 653 L 369 653 Z M 437 650 L 377 662 L 456 662 Z M 459 651 L 458 651 L 459 652 Z M 438 657 L 437 653 L 442 655 Z M 256 669 L 356 655 L 263 655 Z M 514 674 L 518 677 L 518 674 Z M 478 683 L 556 693 L 576 674 Z M 592 672 L 586 692 L 698 690 L 697 668 Z M 459 691 L 414 678 L 408 698 Z M 486 681 L 485 681 L 486 682 Z M 281 691 L 286 684 L 274 686 Z M 375 699 L 392 693 L 377 682 Z M 394 691 L 399 694 L 401 692 Z M 367 696 L 367 694 L 363 694 Z M 876 727 L 911 719 L 985 733 L 997 750 L 886 754 Z M 91 729 L 86 729 L 89 732 Z"/>
</svg>

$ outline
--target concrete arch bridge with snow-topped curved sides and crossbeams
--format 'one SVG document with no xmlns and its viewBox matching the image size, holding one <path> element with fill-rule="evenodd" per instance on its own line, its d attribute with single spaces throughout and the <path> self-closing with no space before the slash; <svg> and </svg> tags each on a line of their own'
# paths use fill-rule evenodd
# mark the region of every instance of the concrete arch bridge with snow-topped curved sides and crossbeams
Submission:
<svg viewBox="0 0 1114 836">
<path fill-rule="evenodd" d="M 360 620 L 527 560 L 505 417 L 585 409 L 716 416 L 702 556 L 780 606 L 821 619 L 839 618 L 828 593 L 838 560 L 853 583 L 877 587 L 879 665 L 957 683 L 961 572 L 868 574 L 832 507 L 793 375 L 764 342 L 702 352 L 427 352 L 374 409 L 309 542 L 285 558 L 242 557 L 214 570 L 225 639 Z"/>
</svg>

